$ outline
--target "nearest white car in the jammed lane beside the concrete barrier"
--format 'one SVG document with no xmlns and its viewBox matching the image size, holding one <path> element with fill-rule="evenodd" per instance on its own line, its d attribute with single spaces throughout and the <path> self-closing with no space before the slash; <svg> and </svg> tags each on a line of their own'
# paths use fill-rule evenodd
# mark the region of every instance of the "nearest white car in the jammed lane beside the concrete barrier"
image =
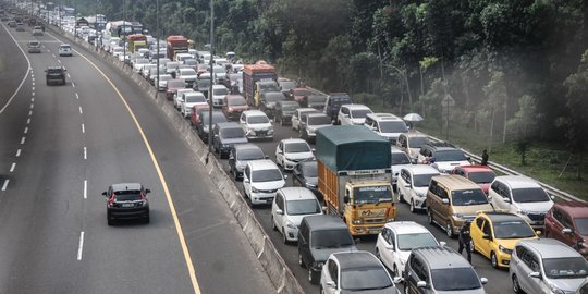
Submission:
<svg viewBox="0 0 588 294">
<path fill-rule="evenodd" d="M 282 234 L 282 241 L 298 241 L 298 226 L 307 216 L 322 215 L 315 194 L 305 187 L 283 187 L 278 191 L 271 205 L 271 225 Z"/>
</svg>

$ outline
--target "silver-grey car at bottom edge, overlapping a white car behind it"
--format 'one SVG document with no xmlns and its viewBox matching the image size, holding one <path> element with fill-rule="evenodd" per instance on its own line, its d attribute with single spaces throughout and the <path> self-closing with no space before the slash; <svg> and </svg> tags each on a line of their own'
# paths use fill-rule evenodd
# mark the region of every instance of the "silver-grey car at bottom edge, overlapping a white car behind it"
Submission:
<svg viewBox="0 0 588 294">
<path fill-rule="evenodd" d="M 404 293 L 485 294 L 488 279 L 478 278 L 471 265 L 446 246 L 415 248 L 406 261 Z"/>
</svg>

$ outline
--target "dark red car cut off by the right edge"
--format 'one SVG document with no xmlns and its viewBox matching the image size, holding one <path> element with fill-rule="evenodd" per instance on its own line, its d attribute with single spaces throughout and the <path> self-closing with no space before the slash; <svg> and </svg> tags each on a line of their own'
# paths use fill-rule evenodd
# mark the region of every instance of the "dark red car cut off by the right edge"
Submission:
<svg viewBox="0 0 588 294">
<path fill-rule="evenodd" d="M 546 215 L 544 234 L 567 244 L 588 260 L 588 203 L 555 203 Z"/>
</svg>

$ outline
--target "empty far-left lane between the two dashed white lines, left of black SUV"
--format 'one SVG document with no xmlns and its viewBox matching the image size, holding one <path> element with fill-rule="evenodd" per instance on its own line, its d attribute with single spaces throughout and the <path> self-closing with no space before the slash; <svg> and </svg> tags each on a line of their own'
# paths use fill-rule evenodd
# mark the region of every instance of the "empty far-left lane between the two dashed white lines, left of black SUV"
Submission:
<svg viewBox="0 0 588 294">
<path fill-rule="evenodd" d="M 35 73 L 45 66 L 44 60 L 38 63 L 32 63 Z M 35 93 L 32 115 L 23 117 L 32 122 L 20 162 L 3 195 L 0 234 L 11 238 L 0 245 L 10 253 L 2 293 L 72 292 L 76 273 L 81 186 L 75 175 L 84 170 L 81 133 L 72 126 L 77 107 L 71 88 L 37 87 Z"/>
</svg>

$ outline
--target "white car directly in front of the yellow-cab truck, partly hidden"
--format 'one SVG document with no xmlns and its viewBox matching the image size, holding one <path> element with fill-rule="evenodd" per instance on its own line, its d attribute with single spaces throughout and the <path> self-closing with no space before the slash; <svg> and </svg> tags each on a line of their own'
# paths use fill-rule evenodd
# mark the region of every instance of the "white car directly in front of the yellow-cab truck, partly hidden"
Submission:
<svg viewBox="0 0 588 294">
<path fill-rule="evenodd" d="M 414 248 L 444 246 L 427 228 L 414 221 L 394 221 L 384 224 L 376 241 L 376 256 L 389 268 L 394 278 L 402 278 L 404 266 Z"/>
</svg>

